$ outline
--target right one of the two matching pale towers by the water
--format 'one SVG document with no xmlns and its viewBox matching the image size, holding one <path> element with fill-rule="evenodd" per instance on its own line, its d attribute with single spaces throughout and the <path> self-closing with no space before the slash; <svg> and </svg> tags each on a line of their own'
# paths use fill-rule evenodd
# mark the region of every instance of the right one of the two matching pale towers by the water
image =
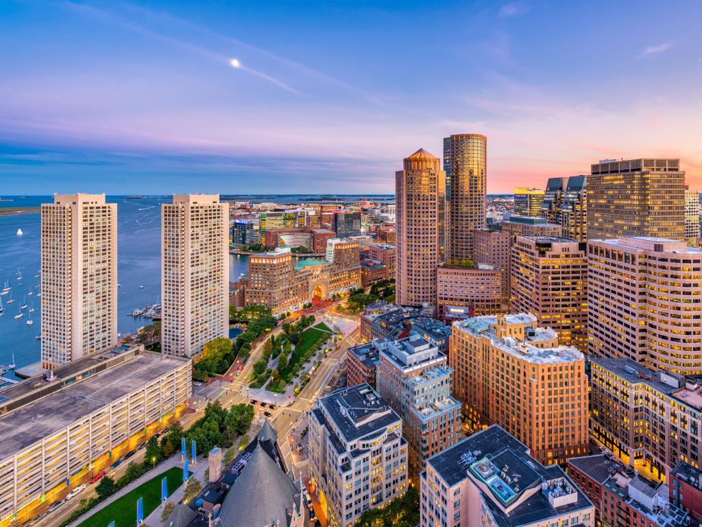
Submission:
<svg viewBox="0 0 702 527">
<path fill-rule="evenodd" d="M 161 205 L 161 349 L 197 356 L 229 334 L 229 204 L 174 195 Z"/>
</svg>

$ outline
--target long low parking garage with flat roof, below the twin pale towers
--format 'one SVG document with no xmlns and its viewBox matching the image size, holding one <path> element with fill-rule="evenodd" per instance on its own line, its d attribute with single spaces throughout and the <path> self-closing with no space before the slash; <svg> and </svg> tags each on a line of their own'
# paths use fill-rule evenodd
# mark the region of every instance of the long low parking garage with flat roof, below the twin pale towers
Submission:
<svg viewBox="0 0 702 527">
<path fill-rule="evenodd" d="M 0 526 L 23 522 L 178 419 L 190 359 L 117 346 L 0 389 Z"/>
</svg>

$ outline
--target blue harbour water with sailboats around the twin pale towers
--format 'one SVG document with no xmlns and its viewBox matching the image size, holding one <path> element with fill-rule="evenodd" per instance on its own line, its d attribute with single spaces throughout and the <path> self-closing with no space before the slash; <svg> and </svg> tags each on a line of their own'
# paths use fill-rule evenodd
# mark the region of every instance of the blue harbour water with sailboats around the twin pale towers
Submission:
<svg viewBox="0 0 702 527">
<path fill-rule="evenodd" d="M 12 201 L 0 201 L 0 207 L 38 206 L 42 202 L 53 202 L 53 197 L 8 197 Z M 133 332 L 150 323 L 143 318 L 128 315 L 133 309 L 161 301 L 161 203 L 170 197 L 147 197 L 126 200 L 124 197 L 108 196 L 107 201 L 117 203 L 117 299 L 118 331 Z M 22 236 L 16 235 L 18 228 Z M 40 217 L 39 214 L 0 216 L 0 285 L 5 281 L 12 287 L 13 304 L 7 304 L 8 295 L 1 296 L 4 313 L 0 316 L 0 364 L 8 364 L 15 355 L 17 367 L 36 363 L 39 360 L 41 334 L 41 298 L 35 275 L 40 266 Z M 248 256 L 230 256 L 230 280 L 247 273 Z M 22 280 L 18 280 L 18 272 Z M 19 285 L 23 282 L 23 285 Z M 143 288 L 140 288 L 143 286 Z M 32 292 L 29 295 L 29 292 Z M 20 304 L 26 299 L 25 315 L 15 319 Z M 34 313 L 28 313 L 34 307 Z M 26 324 L 32 316 L 33 325 Z M 13 377 L 9 372 L 6 377 Z"/>
</svg>

